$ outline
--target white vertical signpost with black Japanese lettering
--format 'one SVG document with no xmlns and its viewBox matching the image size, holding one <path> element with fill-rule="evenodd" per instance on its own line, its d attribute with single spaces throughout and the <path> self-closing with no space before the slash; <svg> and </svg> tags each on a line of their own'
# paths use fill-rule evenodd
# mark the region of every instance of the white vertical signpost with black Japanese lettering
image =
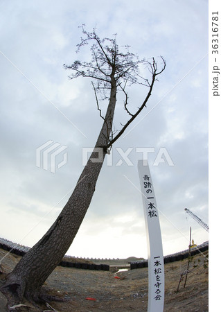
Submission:
<svg viewBox="0 0 221 312">
<path fill-rule="evenodd" d="M 148 239 L 148 312 L 163 312 L 164 265 L 159 212 L 147 160 L 138 162 Z"/>
</svg>

